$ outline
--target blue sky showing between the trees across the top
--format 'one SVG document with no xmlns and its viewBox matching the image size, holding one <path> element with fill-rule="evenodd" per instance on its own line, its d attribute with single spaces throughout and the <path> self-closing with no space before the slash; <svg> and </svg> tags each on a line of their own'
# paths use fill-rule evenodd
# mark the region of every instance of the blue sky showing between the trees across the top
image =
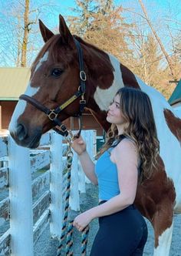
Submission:
<svg viewBox="0 0 181 256">
<path fill-rule="evenodd" d="M 3 25 L 1 25 L 1 19 L 3 22 L 3 12 L 8 13 L 8 9 L 6 8 L 8 5 L 16 5 L 16 2 L 19 0 L 0 0 L 0 34 L 1 36 L 9 36 L 8 33 L 5 34 L 5 29 L 3 29 Z M 22 0 L 21 0 L 22 1 Z M 163 44 L 166 47 L 166 50 L 169 51 L 170 45 L 170 35 L 167 28 L 169 25 L 170 32 L 173 35 L 181 32 L 181 0 L 143 0 L 143 4 L 146 7 L 146 11 L 150 17 L 150 20 L 153 24 L 154 29 L 156 29 L 157 34 L 162 39 Z M 48 3 L 53 2 L 54 5 L 49 8 Z M 41 12 L 40 19 L 44 22 L 45 25 L 48 26 L 49 29 L 53 30 L 58 28 L 58 15 L 64 16 L 65 21 L 67 15 L 75 15 L 74 12 L 71 11 L 71 8 L 75 8 L 76 4 L 74 0 L 30 0 L 31 7 L 34 7 L 35 3 L 40 6 L 48 5 L 48 8 L 44 9 Z M 123 8 L 123 17 L 125 22 L 134 23 L 140 22 L 140 15 L 143 15 L 143 11 L 140 8 L 140 3 L 138 0 L 114 0 L 114 3 L 117 6 L 122 6 Z M 49 11 L 49 12 L 48 12 Z M 142 19 L 143 21 L 143 19 Z M 145 31 L 149 31 L 149 27 L 144 22 Z M 11 29 L 11 28 L 9 28 Z M 12 34 L 13 34 L 12 29 Z M 3 52 L 7 51 L 8 45 L 5 44 Z M 10 46 L 9 46 L 10 47 Z M 0 53 L 2 50 L 2 45 L 0 44 Z M 1 65 L 1 63 L 0 63 Z"/>
</svg>

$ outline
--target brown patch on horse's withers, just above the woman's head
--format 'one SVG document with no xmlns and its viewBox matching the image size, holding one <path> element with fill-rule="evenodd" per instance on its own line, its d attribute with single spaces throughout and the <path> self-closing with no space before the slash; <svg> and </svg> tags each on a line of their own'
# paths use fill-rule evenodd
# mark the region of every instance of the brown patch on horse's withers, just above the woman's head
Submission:
<svg viewBox="0 0 181 256">
<path fill-rule="evenodd" d="M 140 89 L 140 86 L 137 83 L 137 79 L 134 76 L 133 72 L 130 71 L 130 69 L 128 69 L 126 66 L 123 66 L 123 64 L 120 63 L 120 70 L 122 73 L 124 86 Z"/>
</svg>

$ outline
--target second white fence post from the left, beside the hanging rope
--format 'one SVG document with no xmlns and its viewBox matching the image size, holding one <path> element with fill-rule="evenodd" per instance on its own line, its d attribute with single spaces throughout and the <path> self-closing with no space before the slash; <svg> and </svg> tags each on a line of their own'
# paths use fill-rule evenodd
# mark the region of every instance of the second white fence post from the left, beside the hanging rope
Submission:
<svg viewBox="0 0 181 256">
<path fill-rule="evenodd" d="M 50 168 L 50 191 L 51 191 L 51 237 L 61 236 L 62 227 L 62 192 L 63 192 L 63 168 L 62 168 L 62 137 L 51 132 L 51 168 Z"/>
</svg>

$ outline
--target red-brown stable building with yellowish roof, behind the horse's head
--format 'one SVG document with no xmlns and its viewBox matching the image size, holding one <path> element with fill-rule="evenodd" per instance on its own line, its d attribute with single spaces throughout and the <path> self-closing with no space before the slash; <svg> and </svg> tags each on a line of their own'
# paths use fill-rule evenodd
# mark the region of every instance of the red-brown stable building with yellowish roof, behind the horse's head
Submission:
<svg viewBox="0 0 181 256">
<path fill-rule="evenodd" d="M 25 93 L 29 78 L 29 68 L 0 68 L 0 130 L 8 130 L 18 97 Z M 71 117 L 64 124 L 68 129 L 77 130 L 77 118 Z M 83 114 L 83 129 L 97 130 L 98 136 L 104 132 L 89 111 Z"/>
</svg>

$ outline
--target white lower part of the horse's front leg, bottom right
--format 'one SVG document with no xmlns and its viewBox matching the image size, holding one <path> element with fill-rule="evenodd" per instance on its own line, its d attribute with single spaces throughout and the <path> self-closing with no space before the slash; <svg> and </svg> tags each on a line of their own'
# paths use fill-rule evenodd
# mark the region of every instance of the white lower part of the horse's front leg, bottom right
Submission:
<svg viewBox="0 0 181 256">
<path fill-rule="evenodd" d="M 173 224 L 159 237 L 159 245 L 154 249 L 153 256 L 169 256 L 169 249 L 172 242 Z"/>
</svg>

